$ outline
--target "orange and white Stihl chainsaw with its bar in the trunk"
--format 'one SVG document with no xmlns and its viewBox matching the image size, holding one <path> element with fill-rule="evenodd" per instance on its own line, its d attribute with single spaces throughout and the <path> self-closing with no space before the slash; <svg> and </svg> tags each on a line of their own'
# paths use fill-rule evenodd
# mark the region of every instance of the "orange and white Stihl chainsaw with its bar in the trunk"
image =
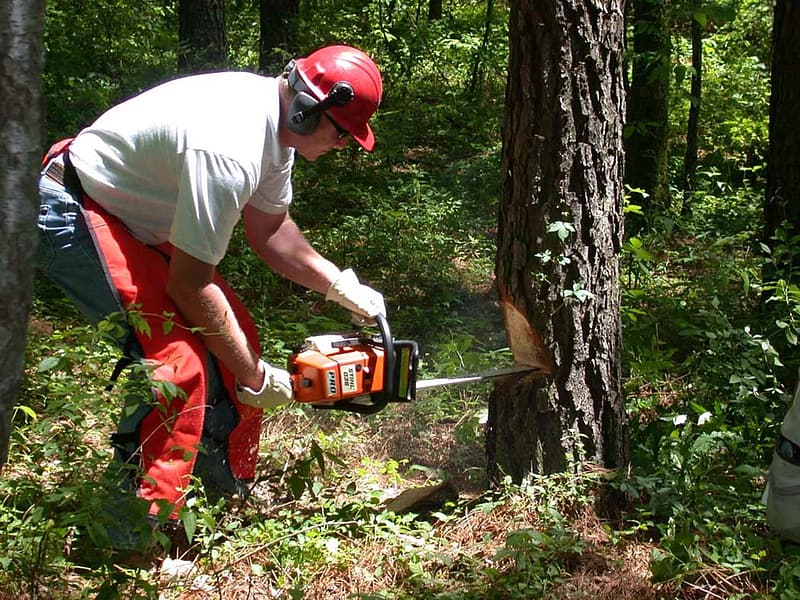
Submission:
<svg viewBox="0 0 800 600">
<path fill-rule="evenodd" d="M 378 315 L 379 335 L 361 331 L 306 338 L 289 357 L 294 399 L 319 409 L 373 414 L 390 402 L 411 402 L 419 390 L 528 373 L 531 366 L 417 381 L 419 346 L 395 340 L 386 317 Z"/>
</svg>

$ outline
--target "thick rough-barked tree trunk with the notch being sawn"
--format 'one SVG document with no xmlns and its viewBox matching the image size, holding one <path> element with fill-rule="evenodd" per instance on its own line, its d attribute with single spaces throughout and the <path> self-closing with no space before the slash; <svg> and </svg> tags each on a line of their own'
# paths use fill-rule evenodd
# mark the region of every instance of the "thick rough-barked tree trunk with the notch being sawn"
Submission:
<svg viewBox="0 0 800 600">
<path fill-rule="evenodd" d="M 495 387 L 493 481 L 627 462 L 619 253 L 623 0 L 512 0 L 496 274 L 554 372 Z"/>
</svg>

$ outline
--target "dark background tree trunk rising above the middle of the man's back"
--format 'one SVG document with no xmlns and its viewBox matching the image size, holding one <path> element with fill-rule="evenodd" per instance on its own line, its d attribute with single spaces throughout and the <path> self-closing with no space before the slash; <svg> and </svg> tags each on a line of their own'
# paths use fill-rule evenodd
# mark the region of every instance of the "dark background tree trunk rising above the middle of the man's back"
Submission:
<svg viewBox="0 0 800 600">
<path fill-rule="evenodd" d="M 180 0 L 178 71 L 201 73 L 228 64 L 224 0 Z"/>
</svg>

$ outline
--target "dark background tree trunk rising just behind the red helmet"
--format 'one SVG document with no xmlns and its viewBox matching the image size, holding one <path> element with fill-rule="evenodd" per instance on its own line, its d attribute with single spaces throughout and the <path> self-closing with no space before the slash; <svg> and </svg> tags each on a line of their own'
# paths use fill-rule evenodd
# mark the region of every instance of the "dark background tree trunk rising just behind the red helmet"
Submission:
<svg viewBox="0 0 800 600">
<path fill-rule="evenodd" d="M 261 0 L 261 47 L 259 69 L 262 73 L 278 74 L 299 52 L 297 48 L 297 19 L 299 0 Z"/>
</svg>

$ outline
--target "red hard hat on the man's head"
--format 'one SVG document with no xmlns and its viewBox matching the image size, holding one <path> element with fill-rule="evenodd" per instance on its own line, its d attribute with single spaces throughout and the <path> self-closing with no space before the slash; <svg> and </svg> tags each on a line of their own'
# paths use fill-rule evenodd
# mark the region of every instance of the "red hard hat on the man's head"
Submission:
<svg viewBox="0 0 800 600">
<path fill-rule="evenodd" d="M 378 110 L 383 94 L 381 73 L 373 60 L 350 46 L 326 46 L 298 58 L 294 66 L 320 101 L 328 96 L 337 83 L 350 84 L 353 89 L 352 101 L 328 110 L 362 148 L 371 152 L 375 147 L 375 135 L 368 121 Z"/>
</svg>

